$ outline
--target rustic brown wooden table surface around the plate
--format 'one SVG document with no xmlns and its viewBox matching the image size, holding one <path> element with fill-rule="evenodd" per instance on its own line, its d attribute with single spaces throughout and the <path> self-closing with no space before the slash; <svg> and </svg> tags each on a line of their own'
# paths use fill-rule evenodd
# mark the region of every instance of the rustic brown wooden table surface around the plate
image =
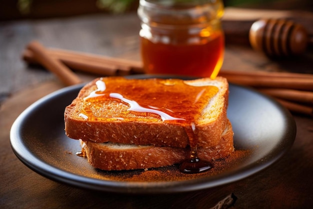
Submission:
<svg viewBox="0 0 313 209">
<path fill-rule="evenodd" d="M 49 180 L 21 163 L 10 148 L 16 117 L 37 99 L 63 88 L 45 69 L 20 59 L 32 40 L 46 47 L 139 60 L 136 14 L 0 23 L 0 208 L 211 208 L 232 194 L 231 208 L 311 208 L 313 120 L 293 114 L 291 149 L 269 168 L 226 185 L 183 193 L 135 195 L 76 188 Z M 223 69 L 313 73 L 312 52 L 273 61 L 248 46 L 227 44 Z M 95 75 L 77 73 L 84 81 Z"/>
</svg>

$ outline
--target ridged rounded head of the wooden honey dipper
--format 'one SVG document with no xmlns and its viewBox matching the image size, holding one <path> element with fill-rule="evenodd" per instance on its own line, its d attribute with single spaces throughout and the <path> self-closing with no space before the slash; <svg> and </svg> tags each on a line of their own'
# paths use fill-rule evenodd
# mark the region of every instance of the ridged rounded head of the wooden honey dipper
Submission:
<svg viewBox="0 0 313 209">
<path fill-rule="evenodd" d="M 249 42 L 253 49 L 270 57 L 284 57 L 303 53 L 309 41 L 306 30 L 299 24 L 264 19 L 252 24 Z"/>
</svg>

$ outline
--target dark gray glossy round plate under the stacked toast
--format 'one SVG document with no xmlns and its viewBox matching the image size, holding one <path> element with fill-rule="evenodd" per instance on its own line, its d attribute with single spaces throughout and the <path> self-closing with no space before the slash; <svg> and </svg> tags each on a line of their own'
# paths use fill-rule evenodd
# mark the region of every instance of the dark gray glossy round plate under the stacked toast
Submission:
<svg viewBox="0 0 313 209">
<path fill-rule="evenodd" d="M 262 94 L 230 84 L 227 114 L 233 126 L 234 146 L 237 150 L 248 150 L 249 154 L 242 154 L 240 159 L 228 164 L 218 162 L 218 172 L 213 168 L 200 175 L 182 174 L 176 165 L 146 172 L 102 171 L 91 167 L 85 158 L 76 156 L 75 152 L 80 150 L 78 141 L 64 134 L 64 108 L 81 87 L 64 88 L 38 100 L 20 114 L 10 132 L 11 147 L 26 166 L 69 185 L 123 193 L 209 188 L 261 171 L 278 160 L 295 138 L 295 122 L 288 111 Z"/>
</svg>

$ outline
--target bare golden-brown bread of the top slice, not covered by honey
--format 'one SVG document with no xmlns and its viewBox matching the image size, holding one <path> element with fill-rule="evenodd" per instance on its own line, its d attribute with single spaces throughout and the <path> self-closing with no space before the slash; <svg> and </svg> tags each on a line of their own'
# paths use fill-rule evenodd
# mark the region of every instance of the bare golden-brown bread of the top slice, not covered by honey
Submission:
<svg viewBox="0 0 313 209">
<path fill-rule="evenodd" d="M 109 78 L 105 78 L 109 79 Z M 114 117 L 116 112 L 127 110 L 128 106 L 116 101 L 107 101 L 100 108 L 92 111 L 94 115 L 108 114 L 110 117 L 89 121 L 79 115 L 83 109 L 84 98 L 97 89 L 95 79 L 86 84 L 77 98 L 65 108 L 64 121 L 66 135 L 73 139 L 96 143 L 114 142 L 123 144 L 157 145 L 171 147 L 187 147 L 189 138 L 185 127 L 177 123 L 167 123 L 149 115 L 136 115 L 133 118 L 120 120 Z M 165 80 L 166 81 L 166 80 Z M 121 81 L 122 82 L 122 81 Z M 146 81 L 148 85 L 148 80 Z M 193 86 L 216 86 L 218 92 L 210 99 L 195 121 L 194 133 L 198 147 L 208 149 L 216 146 L 227 123 L 226 109 L 228 103 L 228 83 L 226 79 L 217 77 L 184 81 Z M 153 106 L 153 104 L 151 104 Z"/>
</svg>

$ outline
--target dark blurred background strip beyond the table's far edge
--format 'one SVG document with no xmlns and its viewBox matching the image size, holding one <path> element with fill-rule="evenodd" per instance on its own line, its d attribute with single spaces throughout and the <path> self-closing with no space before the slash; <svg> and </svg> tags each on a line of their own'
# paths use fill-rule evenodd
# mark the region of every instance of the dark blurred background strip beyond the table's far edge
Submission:
<svg viewBox="0 0 313 209">
<path fill-rule="evenodd" d="M 25 2 L 30 2 L 28 10 L 22 6 Z M 110 12 L 97 2 L 98 0 L 1 0 L 0 21 L 72 17 Z M 138 2 L 138 0 L 133 0 L 126 12 L 135 11 Z M 223 0 L 223 3 L 225 7 L 313 12 L 313 2 L 309 0 Z"/>
</svg>

